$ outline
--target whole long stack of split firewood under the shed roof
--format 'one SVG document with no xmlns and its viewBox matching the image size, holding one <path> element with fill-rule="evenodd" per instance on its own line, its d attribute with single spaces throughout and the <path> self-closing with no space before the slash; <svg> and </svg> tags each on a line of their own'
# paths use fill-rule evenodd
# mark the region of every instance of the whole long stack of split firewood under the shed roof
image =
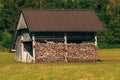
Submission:
<svg viewBox="0 0 120 80">
<path fill-rule="evenodd" d="M 35 43 L 36 62 L 96 61 L 97 47 L 94 44 Z"/>
</svg>

